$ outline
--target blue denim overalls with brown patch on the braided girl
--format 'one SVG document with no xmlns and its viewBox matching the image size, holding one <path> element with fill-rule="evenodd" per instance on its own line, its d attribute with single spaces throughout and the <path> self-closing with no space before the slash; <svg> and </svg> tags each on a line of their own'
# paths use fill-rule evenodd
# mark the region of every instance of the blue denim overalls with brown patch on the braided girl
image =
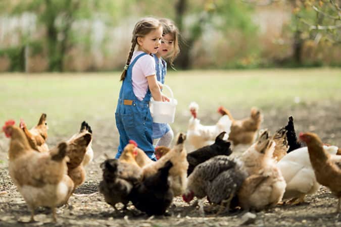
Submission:
<svg viewBox="0 0 341 227">
<path fill-rule="evenodd" d="M 152 160 L 156 161 L 153 147 L 153 119 L 149 109 L 151 91 L 148 89 L 143 100 L 138 100 L 133 92 L 131 74 L 132 68 L 141 56 L 141 53 L 132 63 L 126 72 L 126 77 L 122 82 L 120 96 L 115 112 L 116 127 L 120 134 L 120 145 L 116 158 L 121 156 L 124 147 L 129 140 L 134 140 L 137 146 L 142 149 Z"/>
</svg>

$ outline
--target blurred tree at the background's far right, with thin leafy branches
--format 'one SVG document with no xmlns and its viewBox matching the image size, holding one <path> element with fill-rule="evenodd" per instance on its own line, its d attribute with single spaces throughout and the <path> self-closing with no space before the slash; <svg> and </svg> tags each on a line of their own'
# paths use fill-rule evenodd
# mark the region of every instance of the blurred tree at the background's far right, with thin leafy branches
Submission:
<svg viewBox="0 0 341 227">
<path fill-rule="evenodd" d="M 302 65 L 305 43 L 317 46 L 341 43 L 341 0 L 241 0 L 254 6 L 284 3 L 291 8 L 292 55 L 284 62 Z"/>
</svg>

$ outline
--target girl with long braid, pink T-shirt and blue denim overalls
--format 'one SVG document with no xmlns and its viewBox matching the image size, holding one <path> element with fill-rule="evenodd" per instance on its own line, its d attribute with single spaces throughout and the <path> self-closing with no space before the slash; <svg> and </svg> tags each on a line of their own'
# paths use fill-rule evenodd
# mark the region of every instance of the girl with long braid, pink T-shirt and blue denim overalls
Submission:
<svg viewBox="0 0 341 227">
<path fill-rule="evenodd" d="M 134 140 L 152 160 L 156 160 L 149 101 L 151 96 L 157 101 L 169 101 L 161 93 L 156 79 L 155 61 L 151 55 L 158 51 L 161 38 L 162 25 L 159 20 L 143 18 L 136 23 L 128 59 L 121 75 L 123 82 L 115 112 L 120 134 L 116 158 L 121 156 L 129 140 Z M 137 51 L 134 51 L 136 45 Z"/>
</svg>

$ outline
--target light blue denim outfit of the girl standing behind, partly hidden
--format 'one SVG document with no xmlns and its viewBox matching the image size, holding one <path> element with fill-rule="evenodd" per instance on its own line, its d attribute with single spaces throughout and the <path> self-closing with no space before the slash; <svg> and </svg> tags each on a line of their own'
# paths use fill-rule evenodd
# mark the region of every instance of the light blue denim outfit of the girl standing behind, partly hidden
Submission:
<svg viewBox="0 0 341 227">
<path fill-rule="evenodd" d="M 161 82 L 162 84 L 165 83 L 165 75 L 166 75 L 166 71 L 167 71 L 167 63 L 161 59 L 161 61 L 159 61 L 159 58 L 154 55 L 154 59 L 155 59 L 155 63 L 156 63 L 156 78 L 158 79 L 159 82 Z M 152 138 L 153 139 L 159 139 L 161 137 L 163 137 L 163 135 L 165 135 L 168 131 L 170 130 L 170 126 L 166 123 L 154 123 L 153 122 L 153 135 Z"/>
</svg>

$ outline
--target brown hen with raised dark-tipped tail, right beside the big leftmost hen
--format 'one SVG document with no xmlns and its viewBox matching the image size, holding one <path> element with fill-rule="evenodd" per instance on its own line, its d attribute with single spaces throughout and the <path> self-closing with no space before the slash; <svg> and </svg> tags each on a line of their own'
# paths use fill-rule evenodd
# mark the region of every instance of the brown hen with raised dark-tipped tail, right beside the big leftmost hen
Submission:
<svg viewBox="0 0 341 227">
<path fill-rule="evenodd" d="M 91 142 L 91 138 L 91 134 L 85 131 L 80 132 L 76 136 L 72 136 L 72 138 L 67 141 L 67 155 L 70 159 L 67 162 L 68 175 L 75 185 L 74 190 L 85 181 L 86 172 L 82 162 L 86 154 L 87 147 Z"/>
</svg>

